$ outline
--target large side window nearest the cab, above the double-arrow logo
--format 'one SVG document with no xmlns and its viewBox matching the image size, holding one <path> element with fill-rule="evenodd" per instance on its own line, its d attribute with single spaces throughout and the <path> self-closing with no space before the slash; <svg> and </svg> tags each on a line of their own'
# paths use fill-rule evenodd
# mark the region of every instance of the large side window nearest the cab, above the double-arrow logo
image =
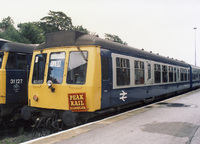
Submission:
<svg viewBox="0 0 200 144">
<path fill-rule="evenodd" d="M 117 85 L 130 85 L 130 63 L 128 59 L 116 58 Z"/>
</svg>

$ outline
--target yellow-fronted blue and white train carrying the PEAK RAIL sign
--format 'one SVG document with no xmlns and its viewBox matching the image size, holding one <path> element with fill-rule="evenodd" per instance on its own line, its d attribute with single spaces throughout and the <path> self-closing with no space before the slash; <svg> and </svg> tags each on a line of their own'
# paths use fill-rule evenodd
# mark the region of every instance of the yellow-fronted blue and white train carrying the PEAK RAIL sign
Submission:
<svg viewBox="0 0 200 144">
<path fill-rule="evenodd" d="M 77 31 L 46 35 L 33 53 L 25 120 L 77 121 L 200 86 L 200 68 Z"/>
</svg>

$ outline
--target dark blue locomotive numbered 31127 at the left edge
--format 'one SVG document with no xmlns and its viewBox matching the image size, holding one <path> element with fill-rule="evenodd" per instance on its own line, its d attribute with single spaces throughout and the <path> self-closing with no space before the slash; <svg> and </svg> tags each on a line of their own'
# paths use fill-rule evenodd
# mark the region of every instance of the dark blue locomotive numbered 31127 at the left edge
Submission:
<svg viewBox="0 0 200 144">
<path fill-rule="evenodd" d="M 0 123 L 17 119 L 28 103 L 28 76 L 35 46 L 0 39 Z"/>
</svg>

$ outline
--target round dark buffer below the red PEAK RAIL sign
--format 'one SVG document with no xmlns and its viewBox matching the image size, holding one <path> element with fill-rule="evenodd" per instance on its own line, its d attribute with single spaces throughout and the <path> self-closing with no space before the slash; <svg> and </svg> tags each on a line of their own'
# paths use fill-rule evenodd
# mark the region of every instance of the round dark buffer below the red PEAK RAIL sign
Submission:
<svg viewBox="0 0 200 144">
<path fill-rule="evenodd" d="M 77 114 L 73 113 L 72 111 L 64 111 L 62 120 L 66 126 L 68 127 L 75 126 L 76 119 L 77 119 Z"/>
</svg>

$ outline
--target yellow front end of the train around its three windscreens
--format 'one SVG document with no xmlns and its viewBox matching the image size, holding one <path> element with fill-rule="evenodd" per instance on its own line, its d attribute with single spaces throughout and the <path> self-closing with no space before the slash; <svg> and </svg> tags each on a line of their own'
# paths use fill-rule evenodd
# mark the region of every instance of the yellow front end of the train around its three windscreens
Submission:
<svg viewBox="0 0 200 144">
<path fill-rule="evenodd" d="M 32 66 L 29 79 L 29 91 L 28 99 L 29 106 L 37 108 L 46 109 L 59 109 L 59 110 L 69 110 L 69 98 L 74 96 L 74 102 L 77 104 L 77 96 L 85 95 L 85 102 L 87 109 L 84 111 L 92 112 L 101 107 L 101 62 L 100 62 L 100 48 L 94 48 L 89 46 L 80 47 L 81 51 L 88 51 L 88 64 L 87 64 L 87 74 L 86 83 L 83 85 L 67 84 L 67 68 L 69 54 L 71 51 L 77 51 L 77 47 L 63 47 L 55 49 L 45 49 L 43 54 L 47 53 L 47 61 L 45 66 L 45 76 L 43 84 L 32 84 L 32 73 L 33 73 L 33 63 L 34 57 L 40 54 L 40 51 L 35 51 L 32 59 Z M 52 92 L 47 85 L 47 75 L 49 66 L 49 55 L 52 52 L 65 52 L 65 66 L 63 72 L 63 80 L 61 84 L 53 84 L 52 87 L 55 91 Z M 33 100 L 33 97 L 37 96 L 38 100 Z M 73 110 L 72 110 L 73 111 Z M 79 111 L 75 110 L 74 111 Z"/>
</svg>

